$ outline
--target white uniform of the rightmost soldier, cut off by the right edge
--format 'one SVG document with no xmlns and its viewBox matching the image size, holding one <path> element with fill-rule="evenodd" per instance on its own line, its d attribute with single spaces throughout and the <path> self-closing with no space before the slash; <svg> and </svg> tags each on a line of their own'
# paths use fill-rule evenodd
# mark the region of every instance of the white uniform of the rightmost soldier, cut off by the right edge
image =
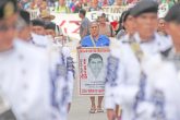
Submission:
<svg viewBox="0 0 180 120">
<path fill-rule="evenodd" d="M 173 63 L 154 56 L 143 62 L 143 70 L 145 99 L 139 103 L 134 120 L 179 120 L 180 81 Z"/>
</svg>

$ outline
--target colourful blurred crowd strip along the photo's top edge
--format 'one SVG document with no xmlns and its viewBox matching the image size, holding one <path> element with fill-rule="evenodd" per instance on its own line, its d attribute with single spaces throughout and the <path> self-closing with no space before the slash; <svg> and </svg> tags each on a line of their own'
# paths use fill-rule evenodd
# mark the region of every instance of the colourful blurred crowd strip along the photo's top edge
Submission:
<svg viewBox="0 0 180 120">
<path fill-rule="evenodd" d="M 46 1 L 49 7 L 55 7 L 57 12 L 79 13 L 80 9 L 87 11 L 98 11 L 107 5 L 127 5 L 135 3 L 139 0 L 19 0 L 19 4 L 23 9 L 28 9 L 33 5 L 39 7 L 43 1 Z M 168 3 L 172 7 L 178 0 L 156 0 L 158 3 Z M 65 10 L 65 11 L 64 11 Z"/>
</svg>

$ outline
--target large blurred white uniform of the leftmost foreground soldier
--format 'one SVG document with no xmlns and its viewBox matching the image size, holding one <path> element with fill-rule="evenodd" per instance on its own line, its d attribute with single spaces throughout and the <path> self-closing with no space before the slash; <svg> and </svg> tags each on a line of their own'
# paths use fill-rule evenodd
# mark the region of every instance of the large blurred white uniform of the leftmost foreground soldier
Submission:
<svg viewBox="0 0 180 120">
<path fill-rule="evenodd" d="M 17 120 L 51 118 L 49 62 L 40 50 L 22 41 L 0 53 L 0 88 L 9 99 Z"/>
</svg>

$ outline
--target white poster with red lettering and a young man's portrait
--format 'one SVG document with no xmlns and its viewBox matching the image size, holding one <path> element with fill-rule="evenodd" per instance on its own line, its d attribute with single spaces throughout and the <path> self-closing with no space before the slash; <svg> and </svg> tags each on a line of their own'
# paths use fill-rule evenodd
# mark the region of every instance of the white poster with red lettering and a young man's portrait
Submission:
<svg viewBox="0 0 180 120">
<path fill-rule="evenodd" d="M 79 94 L 104 95 L 109 48 L 80 48 L 77 52 Z"/>
</svg>

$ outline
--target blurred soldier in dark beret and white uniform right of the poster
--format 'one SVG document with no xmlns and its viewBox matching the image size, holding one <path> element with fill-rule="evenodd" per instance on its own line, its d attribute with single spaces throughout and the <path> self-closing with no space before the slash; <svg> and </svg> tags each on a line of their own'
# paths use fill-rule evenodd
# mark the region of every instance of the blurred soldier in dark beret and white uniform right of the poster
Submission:
<svg viewBox="0 0 180 120">
<path fill-rule="evenodd" d="M 111 48 L 105 91 L 105 106 L 109 120 L 117 117 L 117 105 L 122 108 L 121 119 L 132 120 L 136 112 L 134 103 L 141 103 L 143 99 L 143 96 L 136 98 L 139 91 L 143 92 L 144 88 L 144 74 L 136 52 L 153 56 L 171 47 L 168 39 L 155 33 L 157 10 L 158 4 L 154 1 L 139 2 L 131 13 L 135 19 L 137 33 L 130 39 L 120 40 L 117 47 Z"/>
</svg>

